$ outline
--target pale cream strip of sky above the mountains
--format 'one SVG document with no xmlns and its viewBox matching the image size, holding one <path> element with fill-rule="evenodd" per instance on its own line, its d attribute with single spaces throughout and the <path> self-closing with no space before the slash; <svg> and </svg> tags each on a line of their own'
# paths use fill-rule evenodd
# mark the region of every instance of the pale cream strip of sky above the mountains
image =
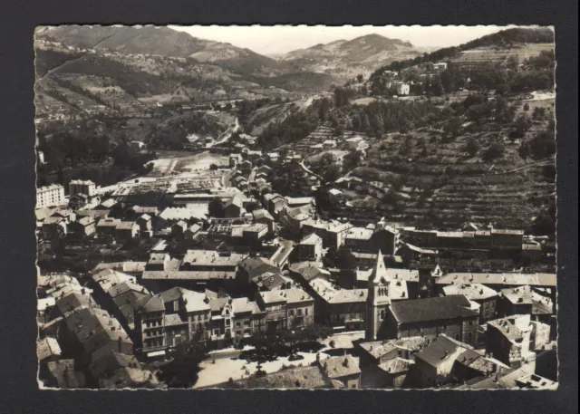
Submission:
<svg viewBox="0 0 580 414">
<path fill-rule="evenodd" d="M 261 54 L 287 53 L 318 43 L 351 40 L 365 34 L 409 41 L 415 46 L 440 48 L 456 46 L 513 26 L 169 26 L 192 36 L 231 43 Z"/>
</svg>

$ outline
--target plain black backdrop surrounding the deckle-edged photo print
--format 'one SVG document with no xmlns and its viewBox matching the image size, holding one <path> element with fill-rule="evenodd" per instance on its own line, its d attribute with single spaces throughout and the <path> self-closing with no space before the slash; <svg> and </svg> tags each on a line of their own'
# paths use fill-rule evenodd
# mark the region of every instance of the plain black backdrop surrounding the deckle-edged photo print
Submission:
<svg viewBox="0 0 580 414">
<path fill-rule="evenodd" d="M 28 0 L 0 5 L 0 412 L 577 412 L 575 0 Z M 37 24 L 554 24 L 560 387 L 557 391 L 38 390 L 34 50 Z"/>
</svg>

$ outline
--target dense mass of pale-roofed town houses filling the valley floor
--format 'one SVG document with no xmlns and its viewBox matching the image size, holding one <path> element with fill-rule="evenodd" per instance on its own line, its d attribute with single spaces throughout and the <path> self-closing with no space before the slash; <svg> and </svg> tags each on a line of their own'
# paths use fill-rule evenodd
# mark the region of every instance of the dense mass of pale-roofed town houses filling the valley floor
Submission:
<svg viewBox="0 0 580 414">
<path fill-rule="evenodd" d="M 521 253 L 531 245 L 522 231 L 323 219 L 314 197 L 272 191 L 268 162 L 232 155 L 232 187 L 178 187 L 170 197 L 115 197 L 79 180 L 68 197 L 60 186 L 39 188 L 50 192 L 36 209 L 41 243 L 149 251 L 88 274 L 40 276 L 45 384 L 160 387 L 145 363 L 170 358 L 181 343 L 239 347 L 324 324 L 361 340 L 343 356 L 224 387 L 555 386 L 546 361 L 555 350 L 556 274 L 437 264 L 455 250 Z M 424 259 L 435 265 L 413 265 Z"/>
</svg>

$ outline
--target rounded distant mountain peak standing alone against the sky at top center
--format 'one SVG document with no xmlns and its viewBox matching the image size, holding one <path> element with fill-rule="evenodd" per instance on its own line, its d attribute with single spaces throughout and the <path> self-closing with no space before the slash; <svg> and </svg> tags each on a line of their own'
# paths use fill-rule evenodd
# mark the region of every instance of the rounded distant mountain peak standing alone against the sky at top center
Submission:
<svg viewBox="0 0 580 414">
<path fill-rule="evenodd" d="M 319 43 L 307 49 L 285 53 L 277 59 L 295 69 L 352 76 L 379 65 L 419 56 L 424 50 L 400 39 L 367 34 L 352 40 Z"/>
</svg>

